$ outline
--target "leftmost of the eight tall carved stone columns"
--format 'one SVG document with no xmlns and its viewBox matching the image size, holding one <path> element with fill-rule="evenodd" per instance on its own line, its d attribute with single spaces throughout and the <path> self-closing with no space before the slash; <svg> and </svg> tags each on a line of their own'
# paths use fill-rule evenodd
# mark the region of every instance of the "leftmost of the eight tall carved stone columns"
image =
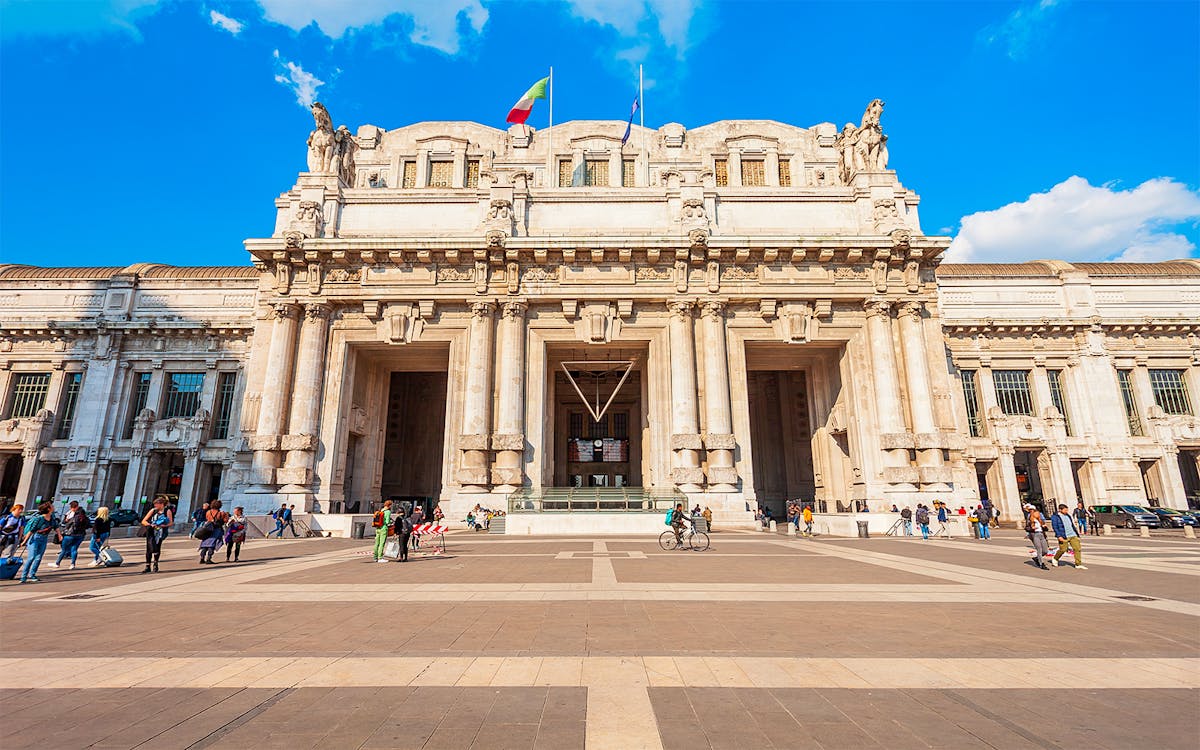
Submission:
<svg viewBox="0 0 1200 750">
<path fill-rule="evenodd" d="M 278 484 L 275 469 L 280 466 L 280 436 L 283 433 L 288 398 L 292 395 L 292 364 L 295 359 L 296 328 L 300 306 L 280 302 L 271 308 L 271 344 L 266 350 L 266 379 L 258 410 L 258 431 L 251 438 L 254 460 L 251 478 L 258 491 L 269 491 Z"/>
</svg>

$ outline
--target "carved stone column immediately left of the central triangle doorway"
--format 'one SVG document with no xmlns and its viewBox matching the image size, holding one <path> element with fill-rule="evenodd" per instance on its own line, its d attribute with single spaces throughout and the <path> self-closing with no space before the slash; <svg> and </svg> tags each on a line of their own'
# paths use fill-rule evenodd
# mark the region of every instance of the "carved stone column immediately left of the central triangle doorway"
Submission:
<svg viewBox="0 0 1200 750">
<path fill-rule="evenodd" d="M 517 300 L 500 306 L 500 347 L 496 366 L 499 403 L 496 434 L 492 436 L 492 450 L 497 454 L 492 481 L 510 492 L 524 484 L 521 458 L 524 456 L 526 308 L 527 305 Z"/>
</svg>

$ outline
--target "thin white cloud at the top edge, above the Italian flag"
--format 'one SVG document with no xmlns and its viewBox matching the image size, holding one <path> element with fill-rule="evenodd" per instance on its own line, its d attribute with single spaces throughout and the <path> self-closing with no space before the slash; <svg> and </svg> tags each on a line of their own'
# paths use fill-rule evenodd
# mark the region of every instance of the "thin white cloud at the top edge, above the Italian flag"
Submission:
<svg viewBox="0 0 1200 750">
<path fill-rule="evenodd" d="M 299 31 L 312 24 L 330 38 L 348 30 L 382 23 L 395 14 L 413 23 L 414 44 L 457 54 L 462 42 L 460 17 L 470 32 L 479 34 L 487 23 L 487 8 L 480 0 L 259 0 L 268 20 Z"/>
</svg>

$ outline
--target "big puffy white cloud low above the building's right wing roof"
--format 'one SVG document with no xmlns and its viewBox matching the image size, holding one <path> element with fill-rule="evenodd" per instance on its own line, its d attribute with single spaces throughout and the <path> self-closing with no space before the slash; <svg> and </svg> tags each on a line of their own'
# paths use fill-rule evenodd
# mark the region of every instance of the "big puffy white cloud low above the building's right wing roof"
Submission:
<svg viewBox="0 0 1200 750">
<path fill-rule="evenodd" d="M 1181 224 L 1200 221 L 1200 192 L 1170 178 L 1133 190 L 1072 176 L 1044 193 L 962 218 L 952 263 L 1163 260 L 1195 252 Z"/>
</svg>

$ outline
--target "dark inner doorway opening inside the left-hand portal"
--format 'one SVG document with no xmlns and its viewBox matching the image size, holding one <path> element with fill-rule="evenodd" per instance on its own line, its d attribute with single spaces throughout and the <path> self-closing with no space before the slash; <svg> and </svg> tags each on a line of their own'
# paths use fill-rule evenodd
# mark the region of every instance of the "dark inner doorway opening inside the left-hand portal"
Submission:
<svg viewBox="0 0 1200 750">
<path fill-rule="evenodd" d="M 384 424 L 382 494 L 432 510 L 442 491 L 446 383 L 443 372 L 392 372 Z"/>
</svg>

